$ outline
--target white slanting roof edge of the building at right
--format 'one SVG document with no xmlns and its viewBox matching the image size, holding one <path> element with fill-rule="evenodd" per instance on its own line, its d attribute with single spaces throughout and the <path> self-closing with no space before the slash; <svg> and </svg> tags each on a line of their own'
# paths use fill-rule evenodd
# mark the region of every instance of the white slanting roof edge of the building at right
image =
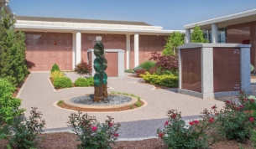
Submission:
<svg viewBox="0 0 256 149">
<path fill-rule="evenodd" d="M 217 23 L 218 28 L 226 28 L 229 25 L 248 23 L 252 21 L 256 21 L 256 9 L 249 10 L 243 13 L 235 13 L 220 18 L 212 18 L 198 23 L 191 23 L 185 25 L 184 28 L 192 29 L 197 24 L 198 26 L 200 26 L 201 29 L 212 29 L 212 23 Z"/>
</svg>

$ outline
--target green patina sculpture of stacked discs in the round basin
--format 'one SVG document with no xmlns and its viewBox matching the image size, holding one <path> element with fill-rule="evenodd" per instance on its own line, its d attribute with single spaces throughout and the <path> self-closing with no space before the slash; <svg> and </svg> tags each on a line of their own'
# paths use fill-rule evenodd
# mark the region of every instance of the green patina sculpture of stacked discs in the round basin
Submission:
<svg viewBox="0 0 256 149">
<path fill-rule="evenodd" d="M 105 58 L 104 45 L 102 44 L 102 37 L 97 36 L 97 43 L 94 45 L 94 54 L 97 57 L 94 59 L 94 102 L 99 102 L 107 97 L 107 59 Z"/>
</svg>

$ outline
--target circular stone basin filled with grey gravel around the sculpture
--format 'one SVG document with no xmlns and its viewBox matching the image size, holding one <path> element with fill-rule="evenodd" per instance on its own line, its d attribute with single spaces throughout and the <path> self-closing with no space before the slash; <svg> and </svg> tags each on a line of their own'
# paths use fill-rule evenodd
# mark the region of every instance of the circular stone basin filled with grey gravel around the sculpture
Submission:
<svg viewBox="0 0 256 149">
<path fill-rule="evenodd" d="M 65 105 L 89 109 L 114 109 L 134 105 L 138 99 L 128 95 L 108 95 L 102 102 L 93 102 L 94 95 L 79 95 L 63 100 Z"/>
</svg>

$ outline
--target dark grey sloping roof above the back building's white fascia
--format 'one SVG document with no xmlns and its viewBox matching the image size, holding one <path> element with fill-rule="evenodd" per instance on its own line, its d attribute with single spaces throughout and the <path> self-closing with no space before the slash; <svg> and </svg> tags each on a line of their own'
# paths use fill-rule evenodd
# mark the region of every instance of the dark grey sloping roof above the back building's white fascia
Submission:
<svg viewBox="0 0 256 149">
<path fill-rule="evenodd" d="M 134 21 L 96 20 L 96 19 L 81 19 L 81 18 L 48 18 L 48 17 L 30 17 L 30 16 L 16 16 L 16 18 L 17 20 L 24 20 L 24 21 L 65 22 L 65 23 L 105 23 L 105 24 L 151 26 L 149 23 L 134 22 Z"/>
</svg>

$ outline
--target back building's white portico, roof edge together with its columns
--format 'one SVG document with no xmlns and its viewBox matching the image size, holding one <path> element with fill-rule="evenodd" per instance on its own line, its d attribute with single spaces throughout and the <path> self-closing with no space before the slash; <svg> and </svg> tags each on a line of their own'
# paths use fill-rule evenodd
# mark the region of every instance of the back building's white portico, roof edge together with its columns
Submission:
<svg viewBox="0 0 256 149">
<path fill-rule="evenodd" d="M 133 49 L 133 66 L 139 64 L 139 39 L 142 35 L 150 36 L 169 36 L 174 31 L 182 30 L 163 30 L 162 27 L 151 26 L 141 22 L 120 22 L 106 21 L 97 22 L 97 20 L 73 19 L 73 18 L 33 18 L 17 17 L 15 27 L 24 32 L 42 32 L 42 33 L 72 33 L 72 69 L 81 62 L 81 45 L 83 33 L 97 34 L 123 34 L 126 36 L 125 55 L 126 69 L 131 69 L 131 49 Z M 95 23 L 93 23 L 93 21 Z M 102 20 L 99 20 L 102 21 Z M 119 24 L 117 24 L 119 23 Z M 131 39 L 133 45 L 131 47 Z M 164 47 L 163 47 L 164 49 Z"/>
</svg>

